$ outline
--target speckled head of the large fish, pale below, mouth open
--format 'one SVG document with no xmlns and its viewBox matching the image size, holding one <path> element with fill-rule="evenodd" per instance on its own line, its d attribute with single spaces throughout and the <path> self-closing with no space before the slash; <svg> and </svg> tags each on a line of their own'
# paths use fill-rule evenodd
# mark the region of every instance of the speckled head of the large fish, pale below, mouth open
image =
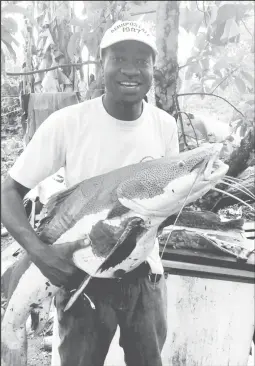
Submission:
<svg viewBox="0 0 255 366">
<path fill-rule="evenodd" d="M 118 187 L 122 205 L 142 216 L 168 217 L 202 197 L 227 173 L 220 159 L 223 145 L 204 144 L 173 157 L 141 164 Z"/>
</svg>

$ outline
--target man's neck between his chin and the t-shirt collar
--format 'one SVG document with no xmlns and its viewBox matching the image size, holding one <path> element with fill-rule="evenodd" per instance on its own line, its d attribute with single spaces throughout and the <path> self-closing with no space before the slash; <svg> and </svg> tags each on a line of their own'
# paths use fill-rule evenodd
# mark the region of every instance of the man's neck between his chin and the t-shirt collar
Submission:
<svg viewBox="0 0 255 366">
<path fill-rule="evenodd" d="M 103 105 L 108 114 L 122 121 L 134 121 L 141 116 L 143 111 L 142 101 L 137 103 L 125 103 L 116 101 L 107 94 L 103 97 Z"/>
</svg>

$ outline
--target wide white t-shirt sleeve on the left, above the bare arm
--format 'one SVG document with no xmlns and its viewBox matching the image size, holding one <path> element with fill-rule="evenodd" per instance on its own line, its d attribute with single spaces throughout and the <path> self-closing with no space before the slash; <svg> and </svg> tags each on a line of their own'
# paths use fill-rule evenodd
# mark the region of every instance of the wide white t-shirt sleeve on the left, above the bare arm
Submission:
<svg viewBox="0 0 255 366">
<path fill-rule="evenodd" d="M 37 129 L 10 169 L 10 176 L 32 189 L 65 165 L 66 143 L 61 110 L 52 113 Z"/>
</svg>

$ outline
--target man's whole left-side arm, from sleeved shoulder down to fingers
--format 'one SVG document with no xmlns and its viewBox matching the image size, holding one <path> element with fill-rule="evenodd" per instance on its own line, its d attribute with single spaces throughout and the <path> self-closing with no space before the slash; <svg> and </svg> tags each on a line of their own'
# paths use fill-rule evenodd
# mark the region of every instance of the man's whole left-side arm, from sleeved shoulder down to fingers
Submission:
<svg viewBox="0 0 255 366">
<path fill-rule="evenodd" d="M 43 243 L 31 227 L 23 207 L 25 194 L 65 165 L 65 114 L 63 109 L 50 115 L 11 168 L 2 185 L 2 222 L 53 284 L 67 286 L 73 274 L 81 272 L 71 257 L 84 243 L 56 246 Z"/>
</svg>

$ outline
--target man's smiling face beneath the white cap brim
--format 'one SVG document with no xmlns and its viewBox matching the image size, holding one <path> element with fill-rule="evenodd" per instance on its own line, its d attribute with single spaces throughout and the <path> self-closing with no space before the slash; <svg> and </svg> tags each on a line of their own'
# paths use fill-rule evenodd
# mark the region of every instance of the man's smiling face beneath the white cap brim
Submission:
<svg viewBox="0 0 255 366">
<path fill-rule="evenodd" d="M 151 87 L 152 50 L 144 43 L 123 41 L 106 49 L 103 57 L 106 93 L 115 101 L 136 103 Z"/>
</svg>

